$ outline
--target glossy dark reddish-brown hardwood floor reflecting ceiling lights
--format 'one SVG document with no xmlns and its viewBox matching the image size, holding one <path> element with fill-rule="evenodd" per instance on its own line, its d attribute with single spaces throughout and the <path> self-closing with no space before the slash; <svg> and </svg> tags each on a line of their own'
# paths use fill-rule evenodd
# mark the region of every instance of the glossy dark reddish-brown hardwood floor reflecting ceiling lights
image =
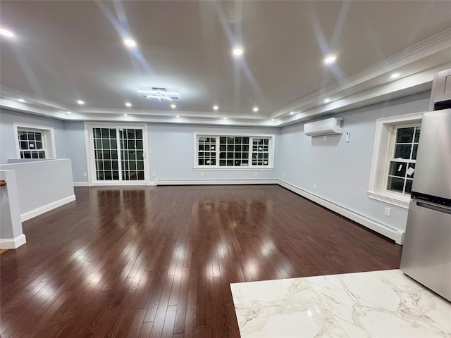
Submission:
<svg viewBox="0 0 451 338">
<path fill-rule="evenodd" d="M 1 254 L 1 337 L 240 337 L 230 283 L 398 268 L 276 185 L 78 187 Z"/>
</svg>

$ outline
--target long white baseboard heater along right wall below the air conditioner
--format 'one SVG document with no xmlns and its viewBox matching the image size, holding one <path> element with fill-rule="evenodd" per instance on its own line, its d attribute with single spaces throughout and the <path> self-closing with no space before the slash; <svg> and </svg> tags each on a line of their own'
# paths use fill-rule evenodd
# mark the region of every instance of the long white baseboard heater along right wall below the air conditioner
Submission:
<svg viewBox="0 0 451 338">
<path fill-rule="evenodd" d="M 388 225 L 384 225 L 382 223 L 378 223 L 376 222 L 376 220 L 371 220 L 371 218 L 367 218 L 364 215 L 360 215 L 359 213 L 339 206 L 338 204 L 311 194 L 303 189 L 299 189 L 298 187 L 295 187 L 288 182 L 278 180 L 278 184 L 281 187 L 287 188 L 288 190 L 291 190 L 292 192 L 295 192 L 296 194 L 301 195 L 306 199 L 314 201 L 315 203 L 330 209 L 331 211 L 335 211 L 335 213 L 339 213 L 340 215 L 343 215 L 350 220 L 354 220 L 354 222 L 357 222 L 364 227 L 368 227 L 369 229 L 374 230 L 379 234 L 383 234 L 385 237 L 393 239 L 397 244 L 402 245 L 404 243 L 404 231 L 389 227 Z"/>
</svg>

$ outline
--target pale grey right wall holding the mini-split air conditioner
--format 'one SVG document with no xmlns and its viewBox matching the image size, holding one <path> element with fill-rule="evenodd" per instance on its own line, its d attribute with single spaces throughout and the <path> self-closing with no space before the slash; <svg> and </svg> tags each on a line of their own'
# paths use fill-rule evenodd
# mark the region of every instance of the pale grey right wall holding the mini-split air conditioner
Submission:
<svg viewBox="0 0 451 338">
<path fill-rule="evenodd" d="M 279 137 L 279 179 L 404 232 L 407 209 L 370 199 L 366 194 L 376 120 L 427 111 L 428 104 L 429 93 L 421 93 L 338 114 L 345 118 L 343 134 L 328 136 L 326 142 L 323 137 L 306 136 L 302 123 L 283 127 Z M 349 143 L 345 142 L 346 132 L 350 132 Z M 391 208 L 390 217 L 384 215 L 385 207 Z"/>
</svg>

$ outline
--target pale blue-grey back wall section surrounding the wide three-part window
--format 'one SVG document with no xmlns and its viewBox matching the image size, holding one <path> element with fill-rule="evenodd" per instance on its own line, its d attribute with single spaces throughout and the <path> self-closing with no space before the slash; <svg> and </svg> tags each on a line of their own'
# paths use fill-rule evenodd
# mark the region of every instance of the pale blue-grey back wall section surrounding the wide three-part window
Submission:
<svg viewBox="0 0 451 338">
<path fill-rule="evenodd" d="M 194 170 L 194 132 L 276 134 L 278 128 L 257 127 L 208 127 L 200 125 L 149 125 L 150 170 L 152 180 L 255 180 L 278 177 L 277 157 L 274 170 Z M 257 176 L 254 172 L 257 171 Z M 201 173 L 204 173 L 201 176 Z"/>
</svg>

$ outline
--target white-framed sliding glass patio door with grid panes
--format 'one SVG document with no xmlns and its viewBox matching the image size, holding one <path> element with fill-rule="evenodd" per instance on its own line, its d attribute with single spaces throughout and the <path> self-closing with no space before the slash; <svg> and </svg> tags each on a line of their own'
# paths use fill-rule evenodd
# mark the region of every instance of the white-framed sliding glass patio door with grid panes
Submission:
<svg viewBox="0 0 451 338">
<path fill-rule="evenodd" d="M 145 126 L 91 125 L 89 139 L 92 184 L 147 184 Z"/>
</svg>

